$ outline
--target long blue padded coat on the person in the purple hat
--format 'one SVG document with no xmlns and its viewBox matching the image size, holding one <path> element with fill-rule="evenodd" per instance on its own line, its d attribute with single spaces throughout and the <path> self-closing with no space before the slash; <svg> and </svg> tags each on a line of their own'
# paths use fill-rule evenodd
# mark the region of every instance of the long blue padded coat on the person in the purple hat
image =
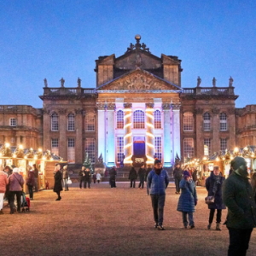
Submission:
<svg viewBox="0 0 256 256">
<path fill-rule="evenodd" d="M 178 199 L 177 211 L 195 212 L 195 201 L 197 201 L 195 182 L 191 180 L 191 183 L 188 183 L 183 178 L 179 183 L 179 187 L 182 189 L 182 192 Z"/>
</svg>

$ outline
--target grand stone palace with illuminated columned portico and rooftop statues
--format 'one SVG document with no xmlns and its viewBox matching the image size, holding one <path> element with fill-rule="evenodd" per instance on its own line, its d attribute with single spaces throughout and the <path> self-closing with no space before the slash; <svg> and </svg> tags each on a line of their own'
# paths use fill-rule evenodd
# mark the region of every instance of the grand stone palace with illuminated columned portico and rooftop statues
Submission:
<svg viewBox="0 0 256 256">
<path fill-rule="evenodd" d="M 181 60 L 153 55 L 136 36 L 124 55 L 96 60 L 96 87 L 49 87 L 43 108 L 0 106 L 0 144 L 42 147 L 70 164 L 125 166 L 157 157 L 201 158 L 226 148 L 256 144 L 256 107 L 236 108 L 233 79 L 227 87 L 183 88 Z M 245 125 L 247 124 L 247 125 Z"/>
</svg>

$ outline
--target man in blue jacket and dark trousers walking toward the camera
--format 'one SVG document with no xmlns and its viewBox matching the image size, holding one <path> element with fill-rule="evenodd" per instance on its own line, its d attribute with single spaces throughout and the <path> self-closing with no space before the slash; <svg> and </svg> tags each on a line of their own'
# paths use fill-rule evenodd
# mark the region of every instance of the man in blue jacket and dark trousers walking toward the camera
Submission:
<svg viewBox="0 0 256 256">
<path fill-rule="evenodd" d="M 154 160 L 154 170 L 148 173 L 147 192 L 148 195 L 150 194 L 154 212 L 154 228 L 158 230 L 165 230 L 163 221 L 168 184 L 168 173 L 166 170 L 163 170 L 160 160 Z"/>
</svg>

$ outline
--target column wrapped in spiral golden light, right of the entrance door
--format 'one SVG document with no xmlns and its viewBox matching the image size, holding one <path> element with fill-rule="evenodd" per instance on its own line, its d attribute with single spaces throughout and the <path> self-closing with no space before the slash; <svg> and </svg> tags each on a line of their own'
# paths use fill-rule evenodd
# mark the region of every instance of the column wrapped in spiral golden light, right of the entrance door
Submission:
<svg viewBox="0 0 256 256">
<path fill-rule="evenodd" d="M 154 164 L 154 104 L 146 103 L 147 164 Z"/>
</svg>

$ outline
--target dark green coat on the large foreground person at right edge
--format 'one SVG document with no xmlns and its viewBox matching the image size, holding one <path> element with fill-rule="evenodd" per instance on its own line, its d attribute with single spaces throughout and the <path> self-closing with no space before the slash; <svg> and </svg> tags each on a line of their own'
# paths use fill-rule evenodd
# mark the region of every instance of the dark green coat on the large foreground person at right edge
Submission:
<svg viewBox="0 0 256 256">
<path fill-rule="evenodd" d="M 223 201 L 228 207 L 228 228 L 245 230 L 256 226 L 253 189 L 248 178 L 238 170 L 224 181 Z"/>
</svg>

